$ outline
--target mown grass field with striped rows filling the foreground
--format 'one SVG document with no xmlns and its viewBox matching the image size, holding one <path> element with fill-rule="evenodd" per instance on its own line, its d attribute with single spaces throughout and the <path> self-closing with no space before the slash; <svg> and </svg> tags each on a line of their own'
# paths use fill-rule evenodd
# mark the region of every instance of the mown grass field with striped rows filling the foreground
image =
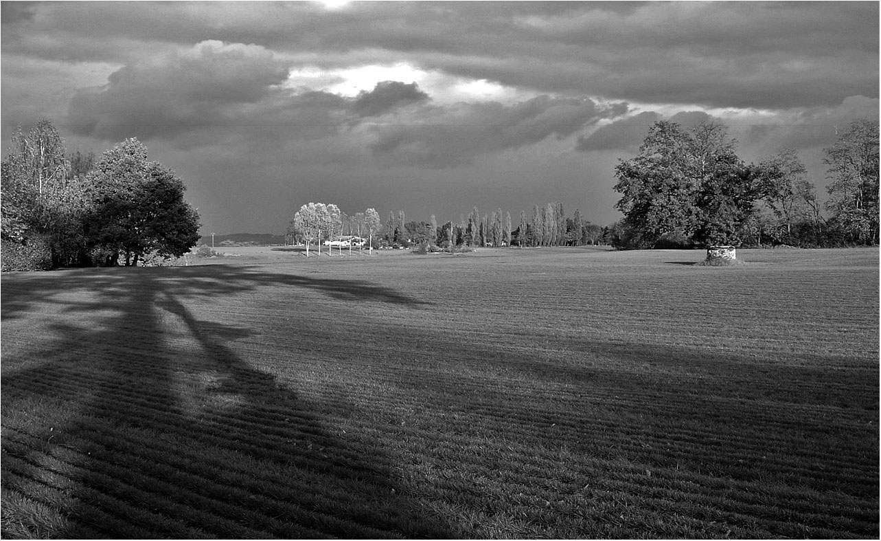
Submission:
<svg viewBox="0 0 881 541">
<path fill-rule="evenodd" d="M 2 278 L 3 537 L 878 537 L 878 250 Z"/>
</svg>

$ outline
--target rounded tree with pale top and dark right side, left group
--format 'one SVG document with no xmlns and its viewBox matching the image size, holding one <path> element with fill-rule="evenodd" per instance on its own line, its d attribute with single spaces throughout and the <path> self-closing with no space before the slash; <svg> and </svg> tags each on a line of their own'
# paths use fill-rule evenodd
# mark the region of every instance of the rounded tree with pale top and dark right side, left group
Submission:
<svg viewBox="0 0 881 541">
<path fill-rule="evenodd" d="M 155 252 L 179 257 L 196 245 L 196 210 L 183 199 L 183 182 L 159 162 L 147 162 L 147 147 L 126 139 L 100 156 L 86 176 L 91 212 L 85 220 L 90 242 L 107 252 L 107 262 L 137 266 Z"/>
</svg>

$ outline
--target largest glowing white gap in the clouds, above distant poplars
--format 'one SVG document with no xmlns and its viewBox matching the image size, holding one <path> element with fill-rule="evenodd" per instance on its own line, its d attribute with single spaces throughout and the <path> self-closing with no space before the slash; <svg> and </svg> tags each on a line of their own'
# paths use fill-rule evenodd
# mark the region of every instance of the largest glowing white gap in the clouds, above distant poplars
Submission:
<svg viewBox="0 0 881 541">
<path fill-rule="evenodd" d="M 406 62 L 368 64 L 337 70 L 307 66 L 292 70 L 285 86 L 306 86 L 352 98 L 362 91 L 373 90 L 382 81 L 415 82 L 420 90 L 431 96 L 432 101 L 441 104 L 457 101 L 522 101 L 537 95 L 486 79 L 467 79 L 442 71 L 426 71 Z"/>
</svg>

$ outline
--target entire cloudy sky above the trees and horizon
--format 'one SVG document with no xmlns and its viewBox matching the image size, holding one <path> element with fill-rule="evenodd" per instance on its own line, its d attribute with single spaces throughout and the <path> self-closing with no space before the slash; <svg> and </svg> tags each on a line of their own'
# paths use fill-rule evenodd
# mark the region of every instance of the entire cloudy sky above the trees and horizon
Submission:
<svg viewBox="0 0 881 541">
<path fill-rule="evenodd" d="M 137 137 L 206 234 L 301 205 L 438 222 L 561 202 L 620 218 L 658 120 L 794 148 L 878 117 L 877 2 L 2 2 L 3 154 L 40 117 L 70 152 Z"/>
</svg>

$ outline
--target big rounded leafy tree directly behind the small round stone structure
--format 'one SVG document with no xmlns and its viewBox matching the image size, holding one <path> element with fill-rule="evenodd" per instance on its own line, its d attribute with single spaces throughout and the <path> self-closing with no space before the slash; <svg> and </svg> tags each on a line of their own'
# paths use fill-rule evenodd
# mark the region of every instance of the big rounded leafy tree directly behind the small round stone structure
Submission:
<svg viewBox="0 0 881 541">
<path fill-rule="evenodd" d="M 663 237 L 739 244 L 759 190 L 735 146 L 722 124 L 651 126 L 639 154 L 615 168 L 626 245 L 650 248 Z"/>
</svg>

